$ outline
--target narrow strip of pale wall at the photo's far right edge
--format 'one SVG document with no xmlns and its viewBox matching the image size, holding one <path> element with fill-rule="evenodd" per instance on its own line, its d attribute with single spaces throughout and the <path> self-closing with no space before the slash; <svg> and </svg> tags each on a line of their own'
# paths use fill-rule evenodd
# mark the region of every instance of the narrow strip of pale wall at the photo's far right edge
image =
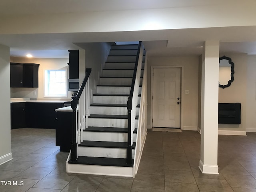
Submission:
<svg viewBox="0 0 256 192">
<path fill-rule="evenodd" d="M 247 60 L 246 130 L 256 132 L 256 56 Z"/>
</svg>

